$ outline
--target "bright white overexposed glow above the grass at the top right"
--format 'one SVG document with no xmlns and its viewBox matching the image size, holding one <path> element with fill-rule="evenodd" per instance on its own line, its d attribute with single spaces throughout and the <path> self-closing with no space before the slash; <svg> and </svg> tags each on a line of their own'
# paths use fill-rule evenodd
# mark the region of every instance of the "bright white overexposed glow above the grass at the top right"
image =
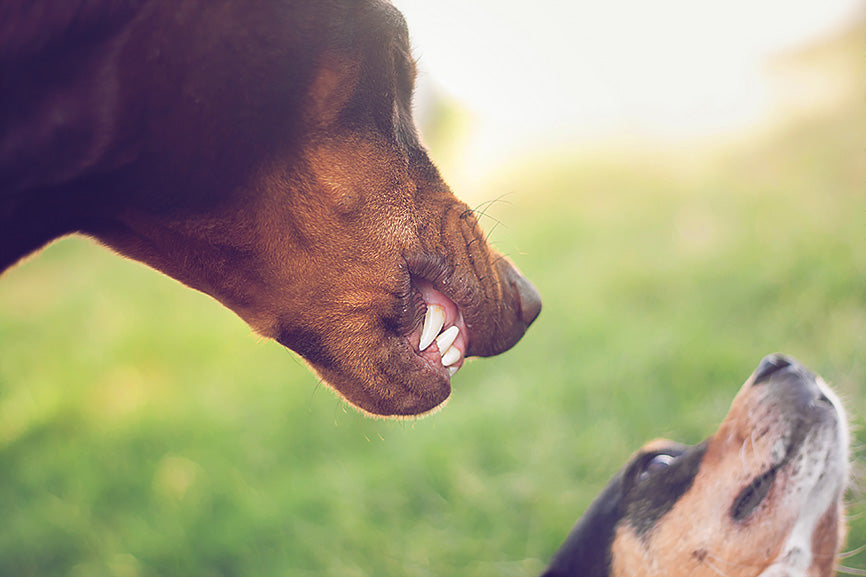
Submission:
<svg viewBox="0 0 866 577">
<path fill-rule="evenodd" d="M 425 83 L 474 120 L 466 163 L 630 133 L 716 134 L 770 106 L 768 57 L 863 0 L 393 0 Z"/>
</svg>

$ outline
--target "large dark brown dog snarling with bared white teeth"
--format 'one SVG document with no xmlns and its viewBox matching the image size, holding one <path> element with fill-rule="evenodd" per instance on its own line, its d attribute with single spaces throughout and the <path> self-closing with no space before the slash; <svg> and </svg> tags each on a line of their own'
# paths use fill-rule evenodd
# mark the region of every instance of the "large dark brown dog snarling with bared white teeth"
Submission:
<svg viewBox="0 0 866 577">
<path fill-rule="evenodd" d="M 91 235 L 378 415 L 540 310 L 419 142 L 387 2 L 0 0 L 0 78 L 0 271 Z"/>
</svg>

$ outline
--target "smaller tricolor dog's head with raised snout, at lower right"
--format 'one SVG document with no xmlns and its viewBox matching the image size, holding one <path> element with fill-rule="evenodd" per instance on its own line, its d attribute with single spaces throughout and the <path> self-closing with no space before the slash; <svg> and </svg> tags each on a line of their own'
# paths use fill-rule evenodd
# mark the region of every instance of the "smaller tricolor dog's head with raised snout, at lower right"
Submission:
<svg viewBox="0 0 866 577">
<path fill-rule="evenodd" d="M 847 478 L 839 399 L 771 355 L 712 437 L 638 451 L 545 576 L 828 577 L 846 532 Z"/>
</svg>

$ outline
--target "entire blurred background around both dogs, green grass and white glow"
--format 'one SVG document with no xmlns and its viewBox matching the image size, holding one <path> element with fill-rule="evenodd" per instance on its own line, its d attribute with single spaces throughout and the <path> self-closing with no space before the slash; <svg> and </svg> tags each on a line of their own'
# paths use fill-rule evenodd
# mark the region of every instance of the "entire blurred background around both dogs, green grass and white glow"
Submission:
<svg viewBox="0 0 866 577">
<path fill-rule="evenodd" d="M 541 317 L 443 411 L 376 421 L 209 297 L 54 243 L 0 280 L 0 575 L 536 575 L 774 351 L 862 457 L 862 1 L 395 4 L 431 154 Z"/>
</svg>

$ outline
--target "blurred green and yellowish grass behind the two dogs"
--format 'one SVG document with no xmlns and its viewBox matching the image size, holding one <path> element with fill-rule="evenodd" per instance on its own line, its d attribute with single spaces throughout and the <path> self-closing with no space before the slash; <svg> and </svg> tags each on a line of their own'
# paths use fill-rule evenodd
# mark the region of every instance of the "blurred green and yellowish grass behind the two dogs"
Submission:
<svg viewBox="0 0 866 577">
<path fill-rule="evenodd" d="M 711 434 L 773 351 L 834 384 L 862 447 L 866 74 L 849 88 L 748 141 L 500 173 L 482 221 L 544 310 L 421 420 L 367 419 L 210 298 L 53 244 L 0 280 L 0 575 L 535 575 L 633 450 Z"/>
</svg>

